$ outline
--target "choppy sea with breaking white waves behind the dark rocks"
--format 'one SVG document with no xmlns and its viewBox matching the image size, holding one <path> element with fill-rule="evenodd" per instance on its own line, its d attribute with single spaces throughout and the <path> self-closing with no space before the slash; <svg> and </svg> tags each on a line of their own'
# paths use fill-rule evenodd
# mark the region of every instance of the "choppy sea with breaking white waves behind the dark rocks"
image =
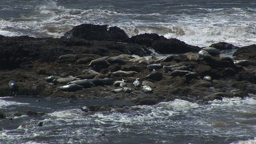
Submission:
<svg viewBox="0 0 256 144">
<path fill-rule="evenodd" d="M 0 34 L 59 38 L 74 26 L 108 24 L 128 36 L 157 33 L 194 46 L 256 41 L 254 0 L 0 1 Z"/>
</svg>

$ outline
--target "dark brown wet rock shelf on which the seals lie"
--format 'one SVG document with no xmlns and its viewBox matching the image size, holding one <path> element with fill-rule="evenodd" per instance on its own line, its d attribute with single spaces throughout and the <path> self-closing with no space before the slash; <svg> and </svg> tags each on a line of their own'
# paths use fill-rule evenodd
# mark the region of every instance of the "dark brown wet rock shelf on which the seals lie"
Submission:
<svg viewBox="0 0 256 144">
<path fill-rule="evenodd" d="M 76 32 L 78 30 L 80 33 Z M 249 60 L 250 65 L 241 66 L 231 61 L 220 60 L 219 56 L 203 58 L 192 62 L 184 53 L 198 52 L 201 48 L 190 46 L 176 39 L 166 39 L 157 34 L 141 34 L 128 38 L 117 27 L 83 25 L 77 26 L 66 36 L 70 38 L 31 38 L 28 36 L 5 37 L 0 36 L 0 96 L 12 96 L 8 87 L 10 80 L 18 84 L 18 94 L 22 96 L 43 96 L 51 98 L 113 98 L 129 100 L 134 105 L 154 105 L 159 102 L 174 99 L 188 100 L 199 104 L 207 104 L 209 100 L 221 100 L 222 97 L 245 97 L 256 94 L 256 45 L 238 48 L 234 53 L 234 60 Z M 91 60 L 103 57 L 114 57 L 120 54 L 136 54 L 138 56 L 152 55 L 148 47 L 161 54 L 177 54 L 170 62 L 161 62 L 163 66 L 186 67 L 188 72 L 197 75 L 185 76 L 182 71 L 175 76 L 166 72 L 164 68 L 149 70 L 147 65 L 127 60 L 111 62 L 110 66 L 89 66 Z M 74 54 L 76 56 L 62 55 Z M 157 56 L 156 56 L 157 57 Z M 78 61 L 81 58 L 82 59 Z M 160 62 L 155 62 L 160 64 Z M 124 79 L 132 92 L 112 93 L 120 88 L 114 85 L 93 86 L 74 92 L 57 89 L 62 84 L 47 82 L 44 78 L 54 76 L 74 76 L 84 78 L 83 70 L 92 69 L 102 75 L 98 78 L 112 78 L 114 81 Z M 112 72 L 118 70 L 135 71 L 132 76 L 114 76 Z M 110 73 L 109 73 L 110 72 Z M 182 75 L 183 74 L 183 75 Z M 193 73 L 194 74 L 194 73 Z M 96 76 L 96 75 L 95 75 Z M 88 79 L 95 77 L 87 76 Z M 210 76 L 211 81 L 203 80 Z M 142 91 L 132 83 L 140 78 L 140 82 L 148 80 L 155 85 L 153 93 Z M 90 106 L 89 111 L 109 110 L 120 108 L 129 110 L 125 106 Z"/>
</svg>

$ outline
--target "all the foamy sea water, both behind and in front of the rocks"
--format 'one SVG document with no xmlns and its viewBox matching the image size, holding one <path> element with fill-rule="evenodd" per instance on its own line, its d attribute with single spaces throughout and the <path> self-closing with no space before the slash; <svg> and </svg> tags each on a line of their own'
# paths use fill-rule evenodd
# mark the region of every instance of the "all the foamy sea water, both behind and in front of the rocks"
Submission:
<svg viewBox="0 0 256 144">
<path fill-rule="evenodd" d="M 157 33 L 195 46 L 256 41 L 252 0 L 0 0 L 0 34 L 59 38 L 74 26 L 108 24 L 128 36 Z M 224 51 L 232 55 L 233 51 Z M 0 97 L 1 144 L 255 144 L 256 96 L 198 105 L 184 100 L 132 106 L 122 100 Z M 83 112 L 125 104 L 134 111 Z M 45 115 L 13 117 L 35 110 Z M 37 126 L 43 122 L 43 126 Z"/>
</svg>

